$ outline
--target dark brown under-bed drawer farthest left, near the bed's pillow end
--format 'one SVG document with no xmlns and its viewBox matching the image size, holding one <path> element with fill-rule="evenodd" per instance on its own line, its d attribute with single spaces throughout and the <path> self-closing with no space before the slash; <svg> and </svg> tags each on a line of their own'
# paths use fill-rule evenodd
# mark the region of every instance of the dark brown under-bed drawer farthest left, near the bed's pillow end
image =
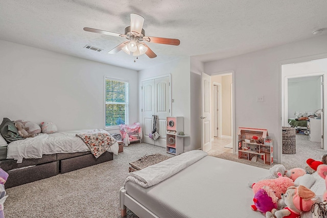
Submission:
<svg viewBox="0 0 327 218">
<path fill-rule="evenodd" d="M 58 174 L 58 171 L 59 166 L 57 161 L 9 171 L 7 172 L 9 177 L 5 183 L 5 188 L 53 177 Z"/>
</svg>

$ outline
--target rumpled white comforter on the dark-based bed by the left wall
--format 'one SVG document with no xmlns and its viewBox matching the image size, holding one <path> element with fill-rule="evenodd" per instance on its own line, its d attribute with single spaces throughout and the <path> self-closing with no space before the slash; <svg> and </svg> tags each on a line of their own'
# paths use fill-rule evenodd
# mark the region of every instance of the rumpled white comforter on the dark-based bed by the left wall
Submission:
<svg viewBox="0 0 327 218">
<path fill-rule="evenodd" d="M 90 130 L 76 130 L 57 132 L 52 134 L 40 133 L 34 138 L 17 140 L 8 144 L 7 159 L 21 163 L 23 158 L 41 158 L 43 154 L 75 153 L 89 151 L 86 144 L 76 134 Z M 118 154 L 118 143 L 114 143 L 107 150 Z"/>
</svg>

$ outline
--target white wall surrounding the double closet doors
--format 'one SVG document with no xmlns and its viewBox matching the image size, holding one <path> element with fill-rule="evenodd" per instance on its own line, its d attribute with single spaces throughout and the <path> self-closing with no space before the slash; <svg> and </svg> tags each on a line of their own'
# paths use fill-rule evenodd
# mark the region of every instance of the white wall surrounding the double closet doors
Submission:
<svg viewBox="0 0 327 218">
<path fill-rule="evenodd" d="M 191 110 L 190 110 L 190 58 L 183 57 L 178 60 L 171 61 L 138 71 L 138 104 L 142 104 L 142 81 L 147 78 L 154 78 L 161 75 L 171 74 L 171 95 L 174 99 L 172 103 L 172 116 L 184 117 L 184 133 L 191 134 Z M 138 113 L 138 119 L 142 119 L 141 109 Z M 192 136 L 191 136 L 192 137 Z M 194 150 L 191 147 L 190 137 L 184 138 L 184 151 Z"/>
</svg>

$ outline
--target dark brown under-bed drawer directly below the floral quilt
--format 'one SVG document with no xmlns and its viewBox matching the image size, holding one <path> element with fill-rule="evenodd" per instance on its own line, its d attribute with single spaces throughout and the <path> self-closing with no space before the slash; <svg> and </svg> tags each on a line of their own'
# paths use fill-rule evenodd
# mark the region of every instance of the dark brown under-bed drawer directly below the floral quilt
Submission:
<svg viewBox="0 0 327 218">
<path fill-rule="evenodd" d="M 75 171 L 76 169 L 92 166 L 109 160 L 113 160 L 113 154 L 110 152 L 105 152 L 98 158 L 95 158 L 92 154 L 87 154 L 74 158 L 60 160 L 60 173 L 68 173 L 71 171 Z"/>
</svg>

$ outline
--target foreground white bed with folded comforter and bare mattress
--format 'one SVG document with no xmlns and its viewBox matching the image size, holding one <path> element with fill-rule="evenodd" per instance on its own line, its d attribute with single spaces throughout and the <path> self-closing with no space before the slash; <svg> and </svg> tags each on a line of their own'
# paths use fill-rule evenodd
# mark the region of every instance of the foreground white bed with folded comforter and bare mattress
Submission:
<svg viewBox="0 0 327 218">
<path fill-rule="evenodd" d="M 189 160 L 197 153 L 202 158 L 185 164 L 184 159 Z M 268 176 L 269 171 L 204 153 L 186 152 L 129 173 L 120 190 L 122 216 L 127 207 L 139 217 L 265 217 L 250 207 L 254 194 L 248 182 Z M 312 190 L 322 195 L 324 180 L 315 177 Z M 301 217 L 312 217 L 310 213 Z"/>
</svg>

